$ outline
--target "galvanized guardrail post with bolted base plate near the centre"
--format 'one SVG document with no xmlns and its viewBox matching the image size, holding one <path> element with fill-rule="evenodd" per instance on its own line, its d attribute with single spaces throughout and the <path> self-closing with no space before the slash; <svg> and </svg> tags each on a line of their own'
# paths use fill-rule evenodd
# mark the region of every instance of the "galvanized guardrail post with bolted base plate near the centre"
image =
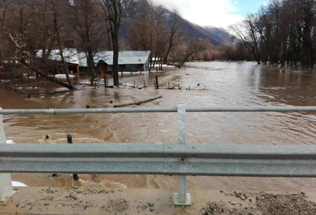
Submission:
<svg viewBox="0 0 316 215">
<path fill-rule="evenodd" d="M 178 105 L 178 144 L 185 144 L 185 105 Z M 179 158 L 185 162 L 185 158 Z M 186 192 L 186 176 L 178 176 L 178 193 L 172 193 L 175 206 L 191 206 L 191 194 Z"/>
</svg>

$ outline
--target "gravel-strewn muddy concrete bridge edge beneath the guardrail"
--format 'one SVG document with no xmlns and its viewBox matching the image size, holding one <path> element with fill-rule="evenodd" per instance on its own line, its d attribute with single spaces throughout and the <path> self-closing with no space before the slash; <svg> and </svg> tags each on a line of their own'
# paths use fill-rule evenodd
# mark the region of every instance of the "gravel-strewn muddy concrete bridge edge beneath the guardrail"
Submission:
<svg viewBox="0 0 316 215">
<path fill-rule="evenodd" d="M 170 190 L 150 188 L 16 187 L 0 214 L 315 214 L 316 192 L 188 190 L 191 207 L 172 205 Z M 176 191 L 176 190 L 173 190 Z"/>
</svg>

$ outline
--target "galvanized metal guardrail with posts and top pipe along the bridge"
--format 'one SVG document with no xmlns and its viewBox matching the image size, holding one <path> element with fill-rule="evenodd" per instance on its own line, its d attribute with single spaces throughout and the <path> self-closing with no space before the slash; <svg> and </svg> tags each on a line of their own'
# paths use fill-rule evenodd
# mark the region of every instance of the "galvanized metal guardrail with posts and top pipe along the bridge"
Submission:
<svg viewBox="0 0 316 215">
<path fill-rule="evenodd" d="M 186 176 L 316 177 L 316 145 L 185 144 L 186 112 L 316 112 L 316 107 L 97 108 L 2 110 L 2 114 L 177 112 L 178 144 L 1 144 L 0 200 L 13 194 L 10 173 L 178 175 L 173 204 L 191 205 Z"/>
</svg>

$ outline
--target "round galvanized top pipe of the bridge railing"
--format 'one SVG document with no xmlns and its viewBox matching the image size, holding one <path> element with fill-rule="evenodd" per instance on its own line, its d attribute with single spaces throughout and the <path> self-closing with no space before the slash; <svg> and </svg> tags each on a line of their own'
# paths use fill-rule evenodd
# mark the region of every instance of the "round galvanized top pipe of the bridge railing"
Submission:
<svg viewBox="0 0 316 215">
<path fill-rule="evenodd" d="M 0 114 L 85 114 L 85 113 L 154 113 L 177 112 L 176 107 L 160 108 L 91 108 L 91 109 L 8 109 Z M 186 112 L 316 112 L 316 106 L 298 107 L 187 107 Z"/>
</svg>

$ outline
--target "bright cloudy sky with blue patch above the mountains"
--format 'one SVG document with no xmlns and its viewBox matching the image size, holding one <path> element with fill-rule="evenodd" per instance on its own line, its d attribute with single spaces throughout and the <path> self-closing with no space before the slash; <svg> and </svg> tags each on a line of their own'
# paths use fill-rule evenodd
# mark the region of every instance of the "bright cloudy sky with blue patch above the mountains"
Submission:
<svg viewBox="0 0 316 215">
<path fill-rule="evenodd" d="M 267 1 L 267 0 L 266 0 Z M 153 0 L 172 10 L 178 9 L 183 18 L 201 26 L 226 28 L 240 21 L 246 13 L 255 12 L 265 0 Z"/>
</svg>

